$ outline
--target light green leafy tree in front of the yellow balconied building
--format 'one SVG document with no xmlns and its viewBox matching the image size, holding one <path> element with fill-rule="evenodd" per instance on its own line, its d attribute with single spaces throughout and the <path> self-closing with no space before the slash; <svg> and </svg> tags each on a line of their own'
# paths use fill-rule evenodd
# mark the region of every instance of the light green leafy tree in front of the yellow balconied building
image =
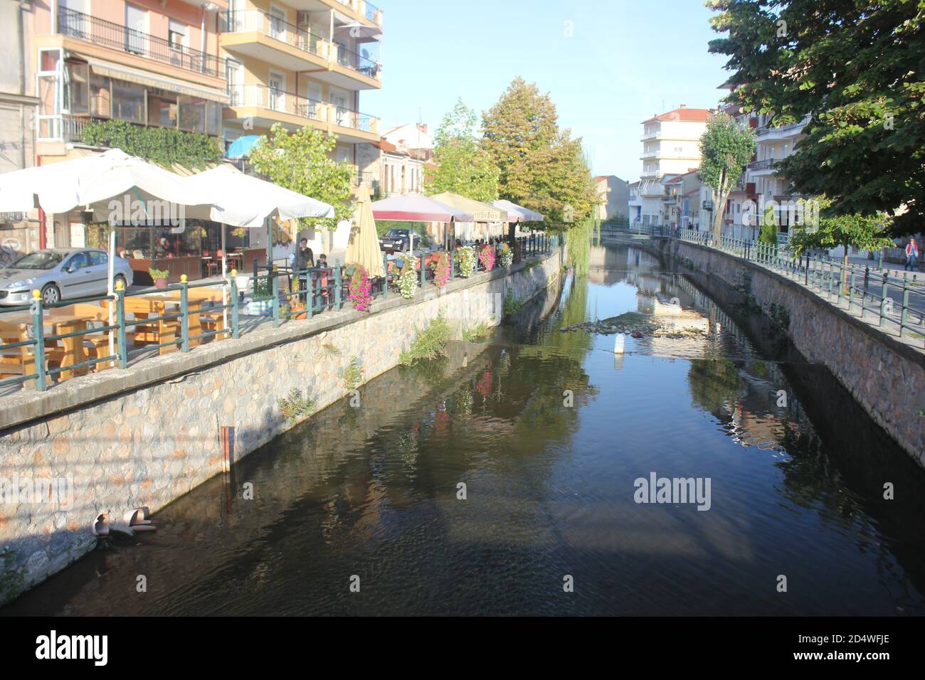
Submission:
<svg viewBox="0 0 925 680">
<path fill-rule="evenodd" d="M 337 137 L 327 132 L 309 127 L 289 132 L 277 123 L 253 147 L 251 165 L 266 179 L 334 207 L 334 217 L 306 217 L 302 225 L 335 229 L 351 216 L 353 167 L 331 160 L 336 143 Z"/>
</svg>

